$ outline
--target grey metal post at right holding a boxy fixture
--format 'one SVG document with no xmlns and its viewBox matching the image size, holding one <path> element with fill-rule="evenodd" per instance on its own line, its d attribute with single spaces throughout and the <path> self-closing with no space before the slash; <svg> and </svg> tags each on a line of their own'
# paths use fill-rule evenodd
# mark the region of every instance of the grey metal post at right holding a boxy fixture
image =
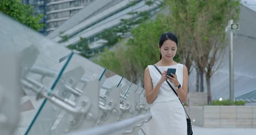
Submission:
<svg viewBox="0 0 256 135">
<path fill-rule="evenodd" d="M 230 26 L 233 20 L 230 20 Z M 233 30 L 230 29 L 230 100 L 234 104 L 234 59 L 233 59 Z"/>
</svg>

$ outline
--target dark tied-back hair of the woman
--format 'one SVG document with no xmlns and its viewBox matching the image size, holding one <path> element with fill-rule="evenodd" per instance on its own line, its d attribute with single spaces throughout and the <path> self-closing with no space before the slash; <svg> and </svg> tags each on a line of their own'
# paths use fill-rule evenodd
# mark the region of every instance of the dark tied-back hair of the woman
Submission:
<svg viewBox="0 0 256 135">
<path fill-rule="evenodd" d="M 158 42 L 159 48 L 162 47 L 164 41 L 166 41 L 166 40 L 171 40 L 171 41 L 175 42 L 177 47 L 178 47 L 178 38 L 177 38 L 177 36 L 174 35 L 171 32 L 166 32 L 166 33 L 163 33 L 159 38 L 159 42 Z M 162 58 L 162 55 L 160 54 L 160 60 L 161 60 L 161 58 Z"/>
</svg>

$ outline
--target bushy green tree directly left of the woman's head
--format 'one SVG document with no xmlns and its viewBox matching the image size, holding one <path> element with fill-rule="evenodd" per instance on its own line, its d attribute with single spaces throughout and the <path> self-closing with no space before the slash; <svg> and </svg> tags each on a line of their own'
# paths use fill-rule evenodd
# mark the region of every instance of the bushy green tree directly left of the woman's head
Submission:
<svg viewBox="0 0 256 135">
<path fill-rule="evenodd" d="M 158 15 L 156 20 L 145 21 L 131 29 L 130 39 L 118 42 L 114 50 L 105 51 L 95 62 L 143 85 L 144 69 L 159 61 L 158 39 L 168 31 L 171 31 L 170 19 Z M 179 62 L 178 56 L 175 61 Z"/>
</svg>

